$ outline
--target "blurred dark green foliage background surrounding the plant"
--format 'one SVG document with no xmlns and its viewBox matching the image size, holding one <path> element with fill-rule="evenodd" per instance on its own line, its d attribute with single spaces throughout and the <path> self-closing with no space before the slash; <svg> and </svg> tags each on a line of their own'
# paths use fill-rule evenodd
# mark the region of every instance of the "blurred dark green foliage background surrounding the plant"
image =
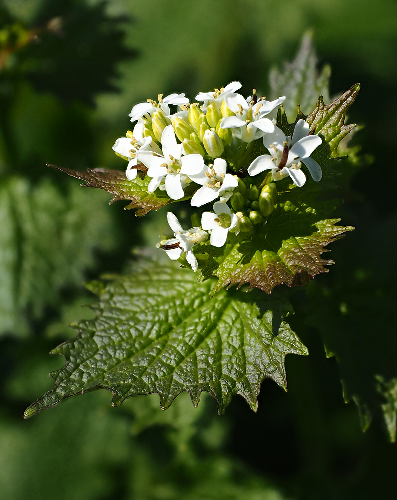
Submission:
<svg viewBox="0 0 397 500">
<path fill-rule="evenodd" d="M 288 393 L 266 380 L 257 414 L 236 398 L 219 417 L 209 396 L 194 409 L 183 394 L 161 412 L 156 395 L 111 408 L 101 391 L 24 421 L 63 364 L 48 351 L 90 317 L 84 281 L 122 272 L 166 230 L 164 214 L 137 219 L 45 163 L 124 169 L 111 146 L 134 104 L 233 79 L 267 95 L 270 69 L 293 59 L 307 29 L 320 67 L 332 67 L 330 95 L 362 84 L 348 120 L 364 127 L 337 213 L 356 231 L 332 245 L 328 275 L 288 292 L 310 351 L 287 358 Z M 0 0 L 0 47 L 2 497 L 393 497 L 382 405 L 394 418 L 395 1 Z"/>
</svg>

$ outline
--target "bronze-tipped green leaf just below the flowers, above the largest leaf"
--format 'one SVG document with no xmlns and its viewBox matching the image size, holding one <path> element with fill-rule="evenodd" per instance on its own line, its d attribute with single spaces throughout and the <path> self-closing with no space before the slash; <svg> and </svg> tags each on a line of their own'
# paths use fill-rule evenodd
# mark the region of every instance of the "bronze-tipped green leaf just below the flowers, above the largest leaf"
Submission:
<svg viewBox="0 0 397 500">
<path fill-rule="evenodd" d="M 266 234 L 257 237 L 254 244 L 230 238 L 222 248 L 201 246 L 194 253 L 206 253 L 208 258 L 201 272 L 202 278 L 218 277 L 212 295 L 226 286 L 259 288 L 271 293 L 278 284 L 303 285 L 319 273 L 328 272 L 325 265 L 332 260 L 321 259 L 325 246 L 339 239 L 352 227 L 335 226 L 340 219 L 321 220 L 311 228 L 311 234 L 291 236 L 273 241 Z M 273 244 L 276 243 L 276 244 Z"/>
</svg>

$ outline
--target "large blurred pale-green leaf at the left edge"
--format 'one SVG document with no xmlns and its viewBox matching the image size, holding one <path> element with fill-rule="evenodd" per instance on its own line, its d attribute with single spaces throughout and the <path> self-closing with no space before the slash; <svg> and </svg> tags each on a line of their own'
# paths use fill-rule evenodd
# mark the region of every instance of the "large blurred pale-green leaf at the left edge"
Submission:
<svg viewBox="0 0 397 500">
<path fill-rule="evenodd" d="M 80 283 L 94 249 L 114 244 L 103 195 L 50 181 L 0 181 L 0 333 L 27 333 L 27 317 L 57 305 L 59 290 Z"/>
</svg>

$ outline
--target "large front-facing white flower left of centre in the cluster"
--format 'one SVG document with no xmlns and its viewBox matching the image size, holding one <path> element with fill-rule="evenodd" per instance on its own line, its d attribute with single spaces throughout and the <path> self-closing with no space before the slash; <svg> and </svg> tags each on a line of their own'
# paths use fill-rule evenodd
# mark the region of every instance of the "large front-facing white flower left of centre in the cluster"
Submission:
<svg viewBox="0 0 397 500">
<path fill-rule="evenodd" d="M 172 125 L 164 128 L 161 145 L 162 154 L 147 150 L 137 154 L 138 160 L 148 168 L 147 176 L 152 177 L 147 190 L 154 192 L 159 187 L 165 189 L 172 199 L 183 198 L 183 188 L 191 182 L 188 174 L 199 173 L 204 168 L 204 159 L 200 154 L 181 157 L 182 144 L 177 143 Z"/>
</svg>

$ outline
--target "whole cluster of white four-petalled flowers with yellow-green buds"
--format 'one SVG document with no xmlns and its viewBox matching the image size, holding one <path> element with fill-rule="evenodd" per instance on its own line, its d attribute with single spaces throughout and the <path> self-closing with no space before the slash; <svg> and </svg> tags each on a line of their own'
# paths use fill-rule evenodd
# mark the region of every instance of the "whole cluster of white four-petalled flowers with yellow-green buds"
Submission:
<svg viewBox="0 0 397 500">
<path fill-rule="evenodd" d="M 137 104 L 129 115 L 137 121 L 133 131 L 113 146 L 128 161 L 129 180 L 142 166 L 147 168 L 148 192 L 160 189 L 173 200 L 191 197 L 194 207 L 215 201 L 213 211 L 202 213 L 201 227 L 184 230 L 168 212 L 174 238 L 159 246 L 173 260 L 184 253 L 194 270 L 198 267 L 194 245 L 221 247 L 229 232 L 249 233 L 267 221 L 276 203 L 276 181 L 290 177 L 296 186 L 303 186 L 302 164 L 314 181 L 322 177 L 321 167 L 311 158 L 322 143 L 315 130 L 303 119 L 292 137 L 276 126 L 277 108 L 286 97 L 267 101 L 253 90 L 244 98 L 237 93 L 240 88 L 241 83 L 233 81 L 220 90 L 198 93 L 193 103 L 184 93 L 175 93 L 159 94 L 158 102 L 148 99 Z M 268 154 L 252 159 L 257 141 Z M 262 178 L 255 182 L 253 177 L 265 171 L 263 182 Z"/>
</svg>

